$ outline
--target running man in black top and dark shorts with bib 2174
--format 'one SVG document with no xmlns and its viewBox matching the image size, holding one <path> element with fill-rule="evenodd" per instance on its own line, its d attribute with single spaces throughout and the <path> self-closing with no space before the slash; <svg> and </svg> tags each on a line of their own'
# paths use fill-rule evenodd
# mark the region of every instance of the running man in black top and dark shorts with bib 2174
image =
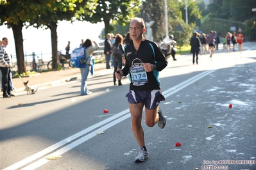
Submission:
<svg viewBox="0 0 256 170">
<path fill-rule="evenodd" d="M 117 69 L 115 76 L 121 80 L 130 73 L 130 91 L 126 95 L 129 102 L 132 131 L 140 146 L 135 162 L 144 162 L 148 151 L 144 141 L 144 131 L 141 126 L 143 107 L 145 106 L 145 122 L 148 127 L 156 123 L 160 128 L 166 125 L 166 118 L 159 108 L 160 101 L 165 100 L 160 89 L 158 72 L 166 68 L 167 60 L 157 43 L 144 38 L 146 31 L 143 19 L 135 17 L 130 22 L 132 42 L 124 47 L 126 64 Z"/>
</svg>

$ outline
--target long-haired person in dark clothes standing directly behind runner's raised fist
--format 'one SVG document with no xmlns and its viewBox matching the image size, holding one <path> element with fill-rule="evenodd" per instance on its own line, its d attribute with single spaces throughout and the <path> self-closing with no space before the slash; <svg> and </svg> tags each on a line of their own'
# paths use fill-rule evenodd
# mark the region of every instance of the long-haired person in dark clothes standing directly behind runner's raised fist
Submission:
<svg viewBox="0 0 256 170">
<path fill-rule="evenodd" d="M 113 77 L 114 77 L 114 86 L 116 86 L 116 77 L 115 77 L 115 72 L 117 72 L 117 68 L 122 69 L 123 66 L 123 58 L 124 58 L 124 47 L 123 47 L 123 36 L 121 36 L 120 34 L 115 35 L 115 42 L 113 44 L 112 50 L 113 48 L 119 48 L 121 50 L 121 52 L 123 53 L 120 56 L 113 56 L 113 63 L 114 63 L 114 73 L 113 73 Z M 118 80 L 118 86 L 123 85 L 121 83 L 121 80 Z"/>
</svg>

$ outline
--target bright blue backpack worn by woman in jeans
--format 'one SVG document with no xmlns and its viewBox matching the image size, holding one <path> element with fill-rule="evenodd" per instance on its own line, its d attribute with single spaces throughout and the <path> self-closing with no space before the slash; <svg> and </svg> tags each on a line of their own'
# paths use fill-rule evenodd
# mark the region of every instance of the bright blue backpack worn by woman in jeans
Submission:
<svg viewBox="0 0 256 170">
<path fill-rule="evenodd" d="M 85 49 L 85 47 L 80 47 L 71 52 L 70 63 L 74 68 L 83 68 L 86 66 Z"/>
</svg>

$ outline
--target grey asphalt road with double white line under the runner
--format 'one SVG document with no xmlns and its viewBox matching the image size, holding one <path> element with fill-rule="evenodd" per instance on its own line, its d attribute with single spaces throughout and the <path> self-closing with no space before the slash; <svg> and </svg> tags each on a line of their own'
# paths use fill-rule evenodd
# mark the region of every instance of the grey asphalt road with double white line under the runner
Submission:
<svg viewBox="0 0 256 170">
<path fill-rule="evenodd" d="M 169 59 L 160 72 L 167 124 L 142 121 L 146 162 L 134 162 L 129 81 L 113 86 L 108 74 L 89 79 L 90 96 L 74 81 L 2 98 L 0 169 L 256 169 L 255 43 L 199 58 Z"/>
</svg>

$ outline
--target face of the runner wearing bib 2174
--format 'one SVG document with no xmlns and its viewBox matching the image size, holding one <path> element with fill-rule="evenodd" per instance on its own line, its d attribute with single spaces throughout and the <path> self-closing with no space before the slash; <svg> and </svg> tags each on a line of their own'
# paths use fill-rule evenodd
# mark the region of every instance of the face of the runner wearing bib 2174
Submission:
<svg viewBox="0 0 256 170">
<path fill-rule="evenodd" d="M 142 29 L 141 24 L 137 20 L 130 23 L 130 35 L 133 41 L 142 40 L 142 35 L 146 29 Z"/>
</svg>

